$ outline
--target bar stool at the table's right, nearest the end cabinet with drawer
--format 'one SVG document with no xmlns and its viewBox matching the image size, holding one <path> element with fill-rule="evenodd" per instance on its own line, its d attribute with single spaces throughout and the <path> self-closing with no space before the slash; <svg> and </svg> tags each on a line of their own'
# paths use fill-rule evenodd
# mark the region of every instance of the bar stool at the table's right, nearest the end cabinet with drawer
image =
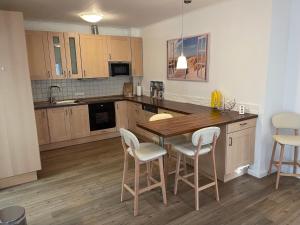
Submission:
<svg viewBox="0 0 300 225">
<path fill-rule="evenodd" d="M 219 201 L 219 190 L 218 190 L 218 180 L 217 180 L 217 171 L 216 171 L 216 161 L 215 161 L 215 149 L 217 139 L 220 135 L 219 127 L 208 127 L 200 129 L 193 133 L 192 141 L 176 144 L 173 148 L 177 151 L 177 164 L 176 164 L 176 174 L 175 174 L 175 186 L 174 194 L 177 194 L 178 181 L 182 180 L 189 186 L 195 189 L 195 208 L 199 210 L 199 191 L 203 191 L 209 187 L 215 186 L 216 189 L 216 199 Z M 211 152 L 212 160 L 212 169 L 213 169 L 213 182 L 199 187 L 198 179 L 198 158 L 200 155 L 204 155 Z M 180 175 L 180 161 L 181 156 L 185 155 L 194 160 L 194 172 L 181 176 Z M 188 180 L 188 177 L 194 175 L 194 183 L 191 183 Z"/>
</svg>

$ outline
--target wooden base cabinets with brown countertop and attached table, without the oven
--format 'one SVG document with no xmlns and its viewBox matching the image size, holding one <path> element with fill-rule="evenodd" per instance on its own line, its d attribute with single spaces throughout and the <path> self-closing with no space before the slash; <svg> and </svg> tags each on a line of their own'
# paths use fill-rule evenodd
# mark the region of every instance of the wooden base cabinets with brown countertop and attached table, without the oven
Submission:
<svg viewBox="0 0 300 225">
<path fill-rule="evenodd" d="M 109 102 L 114 102 L 115 105 L 116 126 L 90 131 L 88 106 Z M 86 98 L 66 104 L 38 102 L 35 103 L 35 112 L 40 150 L 118 137 L 121 127 L 128 128 L 147 140 L 158 139 L 157 135 L 167 138 L 191 133 L 199 128 L 219 126 L 222 132 L 216 154 L 218 178 L 225 182 L 231 180 L 242 175 L 253 163 L 257 118 L 254 114 L 239 115 L 235 111 L 221 112 L 206 106 L 155 100 L 146 96 Z M 148 122 L 152 115 L 163 112 L 172 114 L 174 118 Z M 55 129 L 55 125 L 51 124 L 53 121 L 55 125 L 63 125 L 65 129 Z M 61 133 L 62 131 L 64 132 Z M 205 173 L 210 173 L 205 156 L 200 160 L 200 165 Z"/>
</svg>

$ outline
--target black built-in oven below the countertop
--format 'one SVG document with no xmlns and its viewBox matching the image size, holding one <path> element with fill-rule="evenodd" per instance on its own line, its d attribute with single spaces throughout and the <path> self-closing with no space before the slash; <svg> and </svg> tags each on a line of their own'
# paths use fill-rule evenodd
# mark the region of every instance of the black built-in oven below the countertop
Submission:
<svg viewBox="0 0 300 225">
<path fill-rule="evenodd" d="M 89 104 L 90 131 L 116 127 L 114 102 Z"/>
</svg>

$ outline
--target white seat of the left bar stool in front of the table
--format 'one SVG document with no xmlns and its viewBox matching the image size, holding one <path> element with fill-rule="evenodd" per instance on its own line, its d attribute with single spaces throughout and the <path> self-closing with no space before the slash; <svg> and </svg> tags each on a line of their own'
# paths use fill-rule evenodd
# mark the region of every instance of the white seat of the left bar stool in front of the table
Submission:
<svg viewBox="0 0 300 225">
<path fill-rule="evenodd" d="M 131 148 L 127 149 L 128 153 L 134 157 Z M 159 145 L 153 143 L 140 143 L 140 148 L 135 151 L 136 156 L 140 161 L 149 161 L 157 159 L 165 154 L 167 151 L 160 147 Z"/>
</svg>

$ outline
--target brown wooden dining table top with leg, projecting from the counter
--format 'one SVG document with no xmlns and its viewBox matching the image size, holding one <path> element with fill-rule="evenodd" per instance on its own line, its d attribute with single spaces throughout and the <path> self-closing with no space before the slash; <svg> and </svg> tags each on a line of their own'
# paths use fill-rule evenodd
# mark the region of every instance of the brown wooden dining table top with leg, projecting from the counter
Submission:
<svg viewBox="0 0 300 225">
<path fill-rule="evenodd" d="M 163 119 L 152 122 L 138 123 L 137 126 L 145 129 L 159 137 L 159 145 L 165 146 L 165 138 L 173 137 L 181 134 L 192 133 L 201 128 L 211 126 L 223 126 L 229 123 L 235 123 L 243 120 L 257 118 L 255 114 L 239 115 L 236 111 L 220 111 L 215 109 L 203 110 L 199 113 L 183 115 L 179 117 L 173 117 L 170 119 Z M 167 157 L 164 160 L 167 164 Z M 165 177 L 168 172 L 167 166 L 165 166 Z"/>
</svg>

